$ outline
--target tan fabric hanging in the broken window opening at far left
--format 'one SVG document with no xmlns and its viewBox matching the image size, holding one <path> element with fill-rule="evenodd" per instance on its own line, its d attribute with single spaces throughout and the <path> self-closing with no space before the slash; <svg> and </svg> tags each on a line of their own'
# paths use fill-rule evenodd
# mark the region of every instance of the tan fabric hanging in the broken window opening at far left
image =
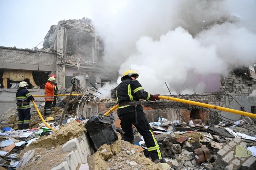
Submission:
<svg viewBox="0 0 256 170">
<path fill-rule="evenodd" d="M 34 87 L 37 87 L 31 71 L 4 71 L 4 89 L 7 89 L 7 78 L 9 78 L 12 81 L 24 81 L 25 79 L 29 79 L 30 84 L 32 84 Z"/>
</svg>

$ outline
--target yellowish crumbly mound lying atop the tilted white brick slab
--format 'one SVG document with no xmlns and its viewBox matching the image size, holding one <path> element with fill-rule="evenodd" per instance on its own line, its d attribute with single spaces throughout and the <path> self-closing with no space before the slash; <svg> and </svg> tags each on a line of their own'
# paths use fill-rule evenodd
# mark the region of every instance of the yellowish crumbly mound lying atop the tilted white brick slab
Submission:
<svg viewBox="0 0 256 170">
<path fill-rule="evenodd" d="M 21 158 L 25 152 L 31 149 L 48 149 L 51 147 L 59 146 L 63 143 L 66 143 L 70 139 L 80 137 L 83 131 L 86 131 L 84 124 L 72 120 L 65 126 L 61 126 L 59 130 L 54 131 L 51 135 L 40 137 L 35 142 L 31 143 L 20 153 L 19 158 Z"/>
</svg>

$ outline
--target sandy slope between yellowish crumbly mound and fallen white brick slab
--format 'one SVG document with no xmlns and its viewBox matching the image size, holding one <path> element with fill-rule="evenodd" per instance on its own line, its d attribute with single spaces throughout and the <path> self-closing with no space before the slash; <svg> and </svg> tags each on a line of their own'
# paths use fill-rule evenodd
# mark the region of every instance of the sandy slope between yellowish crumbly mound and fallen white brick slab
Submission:
<svg viewBox="0 0 256 170">
<path fill-rule="evenodd" d="M 50 149 L 36 148 L 35 156 L 31 158 L 21 169 L 52 169 L 68 155 L 62 152 L 62 145 Z"/>
</svg>

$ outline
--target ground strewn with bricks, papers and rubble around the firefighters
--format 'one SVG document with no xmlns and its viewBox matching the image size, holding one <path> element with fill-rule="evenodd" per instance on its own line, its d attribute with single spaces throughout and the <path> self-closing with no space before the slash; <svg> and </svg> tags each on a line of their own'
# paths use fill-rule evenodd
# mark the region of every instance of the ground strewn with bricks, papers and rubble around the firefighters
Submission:
<svg viewBox="0 0 256 170">
<path fill-rule="evenodd" d="M 31 106 L 29 126 L 31 130 L 17 130 L 18 117 L 15 113 L 16 109 L 9 109 L 7 113 L 9 115 L 8 119 L 6 116 L 1 118 L 2 134 L 0 136 L 0 144 L 3 147 L 0 149 L 0 166 L 15 169 L 23 154 L 32 150 L 34 150 L 33 156 L 22 166 L 22 169 L 51 169 L 63 162 L 68 154 L 63 152 L 63 144 L 70 139 L 81 137 L 81 133 L 86 132 L 84 126 L 86 121 L 78 123 L 74 120 L 76 106 L 80 99 L 81 96 L 71 98 L 68 104 L 68 113 L 65 114 L 64 124 L 61 127 L 59 126 L 60 118 L 66 99 L 63 99 L 63 103 L 58 105 L 60 107 L 52 108 L 51 115 L 43 116 L 45 120 L 48 117 L 52 119 L 47 123 L 57 129 L 54 132 L 45 127 L 33 106 Z M 91 101 L 97 101 L 98 103 L 113 102 L 111 99 L 97 99 L 92 95 L 83 97 L 81 101 L 87 104 Z M 105 105 L 99 105 L 99 108 L 103 108 Z M 39 110 L 43 114 L 43 107 L 40 105 Z M 249 151 L 256 149 L 255 142 L 240 139 L 248 139 L 248 136 L 244 136 L 245 134 L 253 135 L 250 129 L 255 129 L 254 120 L 250 122 L 250 125 L 246 124 L 248 123 L 246 121 L 243 124 L 241 120 L 240 127 L 226 125 L 222 122 L 218 125 L 211 124 L 206 126 L 203 121 L 199 120 L 196 120 L 196 125 L 193 122 L 189 125 L 185 122 L 178 124 L 177 120 L 171 122 L 166 119 L 161 122 L 164 126 L 152 125 L 153 122 L 150 123 L 150 126 L 166 163 L 153 163 L 148 156 L 146 148 L 140 148 L 139 151 L 138 145 L 132 145 L 121 140 L 121 135 L 118 134 L 118 140 L 115 143 L 102 145 L 98 151 L 88 157 L 90 169 L 201 170 L 213 169 L 214 167 L 225 169 L 223 168 L 224 166 L 229 166 L 229 169 L 235 169 L 237 167 L 251 167 L 256 164 L 255 153 Z M 201 123 L 197 124 L 198 122 Z M 11 131 L 8 131 L 6 127 L 12 127 Z M 117 130 L 122 133 L 121 128 L 117 128 Z M 234 138 L 235 136 L 236 138 Z M 134 138 L 139 138 L 140 141 L 143 141 L 136 129 L 134 129 Z M 252 139 L 254 138 L 252 137 Z M 5 144 L 6 141 L 10 143 Z M 145 147 L 145 145 L 141 145 Z M 238 163 L 241 165 L 238 165 Z M 77 169 L 79 169 L 79 166 Z"/>
</svg>

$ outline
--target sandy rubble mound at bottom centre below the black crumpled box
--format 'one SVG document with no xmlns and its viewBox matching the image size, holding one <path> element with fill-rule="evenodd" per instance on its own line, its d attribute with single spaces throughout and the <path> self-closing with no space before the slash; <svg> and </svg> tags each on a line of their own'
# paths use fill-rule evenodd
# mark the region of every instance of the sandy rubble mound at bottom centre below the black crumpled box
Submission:
<svg viewBox="0 0 256 170">
<path fill-rule="evenodd" d="M 161 169 L 160 165 L 143 157 L 131 143 L 121 140 L 120 134 L 118 138 L 110 146 L 102 145 L 96 153 L 88 157 L 90 169 Z M 131 161 L 135 162 L 134 166 L 130 165 Z"/>
</svg>

